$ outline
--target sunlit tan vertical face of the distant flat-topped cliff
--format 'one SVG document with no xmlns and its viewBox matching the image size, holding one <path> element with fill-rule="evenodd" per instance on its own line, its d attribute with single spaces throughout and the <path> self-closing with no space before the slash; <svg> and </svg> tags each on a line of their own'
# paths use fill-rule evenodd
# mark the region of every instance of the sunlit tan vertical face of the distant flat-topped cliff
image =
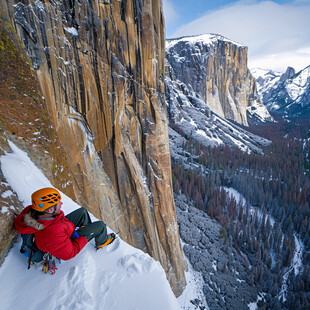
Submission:
<svg viewBox="0 0 310 310">
<path fill-rule="evenodd" d="M 204 92 L 211 110 L 243 125 L 248 125 L 246 108 L 254 81 L 247 68 L 247 54 L 246 47 L 218 41 L 208 58 Z"/>
</svg>

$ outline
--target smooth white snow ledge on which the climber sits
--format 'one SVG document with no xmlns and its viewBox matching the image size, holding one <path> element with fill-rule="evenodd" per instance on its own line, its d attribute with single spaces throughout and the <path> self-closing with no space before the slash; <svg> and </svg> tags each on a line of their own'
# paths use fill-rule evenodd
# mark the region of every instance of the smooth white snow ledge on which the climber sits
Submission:
<svg viewBox="0 0 310 310">
<path fill-rule="evenodd" d="M 0 157 L 3 175 L 27 206 L 33 191 L 52 184 L 25 152 L 9 144 L 13 152 Z M 61 195 L 65 214 L 80 207 Z M 38 264 L 27 270 L 20 245 L 21 238 L 0 268 L 1 309 L 180 310 L 161 265 L 120 238 L 99 251 L 89 242 L 73 259 L 57 263 L 53 276 Z"/>
</svg>

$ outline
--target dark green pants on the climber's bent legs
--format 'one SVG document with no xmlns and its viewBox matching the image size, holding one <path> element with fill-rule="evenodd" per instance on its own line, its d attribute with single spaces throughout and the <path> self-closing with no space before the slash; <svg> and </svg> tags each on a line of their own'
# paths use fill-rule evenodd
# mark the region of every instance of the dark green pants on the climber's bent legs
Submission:
<svg viewBox="0 0 310 310">
<path fill-rule="evenodd" d="M 87 238 L 88 241 L 95 238 L 95 242 L 104 243 L 107 241 L 107 226 L 102 221 L 93 222 L 90 219 L 88 212 L 84 208 L 77 209 L 68 215 L 66 218 L 72 222 L 76 231 L 80 236 Z M 82 227 L 83 226 L 83 227 Z M 74 238 L 73 236 L 71 238 Z"/>
</svg>

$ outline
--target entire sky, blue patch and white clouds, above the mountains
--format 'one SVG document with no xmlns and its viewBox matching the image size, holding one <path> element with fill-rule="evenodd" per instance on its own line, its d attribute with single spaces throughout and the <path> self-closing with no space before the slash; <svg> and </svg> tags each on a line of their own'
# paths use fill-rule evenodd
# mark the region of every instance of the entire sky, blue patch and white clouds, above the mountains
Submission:
<svg viewBox="0 0 310 310">
<path fill-rule="evenodd" d="M 218 33 L 248 46 L 249 67 L 310 65 L 310 0 L 163 0 L 166 37 Z"/>
</svg>

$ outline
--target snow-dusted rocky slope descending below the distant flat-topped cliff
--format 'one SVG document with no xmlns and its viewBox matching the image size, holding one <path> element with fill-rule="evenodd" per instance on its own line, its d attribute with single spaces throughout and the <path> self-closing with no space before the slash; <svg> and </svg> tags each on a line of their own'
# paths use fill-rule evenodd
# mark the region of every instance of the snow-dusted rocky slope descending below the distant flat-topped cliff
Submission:
<svg viewBox="0 0 310 310">
<path fill-rule="evenodd" d="M 169 142 L 173 158 L 183 149 L 184 139 L 177 137 L 181 133 L 186 139 L 192 136 L 204 146 L 226 144 L 248 153 L 262 153 L 261 147 L 270 144 L 267 139 L 256 136 L 212 112 L 197 93 L 180 81 L 166 78 L 165 82 L 170 123 Z"/>
</svg>

